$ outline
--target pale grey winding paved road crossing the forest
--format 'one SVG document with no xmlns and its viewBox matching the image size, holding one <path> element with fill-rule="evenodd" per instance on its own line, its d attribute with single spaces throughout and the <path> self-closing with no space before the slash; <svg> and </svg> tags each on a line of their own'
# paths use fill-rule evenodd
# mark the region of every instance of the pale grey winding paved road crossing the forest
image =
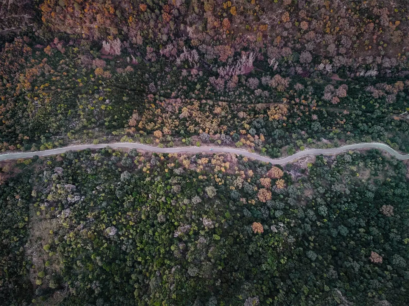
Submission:
<svg viewBox="0 0 409 306">
<path fill-rule="evenodd" d="M 409 159 L 409 154 L 402 155 L 396 152 L 395 150 L 393 150 L 390 146 L 386 144 L 376 143 L 376 142 L 362 143 L 362 144 L 349 144 L 349 145 L 341 146 L 339 148 L 334 148 L 334 149 L 308 149 L 304 151 L 299 151 L 293 155 L 279 158 L 279 159 L 272 159 L 269 157 L 258 155 L 256 153 L 250 153 L 248 151 L 244 151 L 240 149 L 226 148 L 226 147 L 220 147 L 220 146 L 219 147 L 201 146 L 201 147 L 158 148 L 155 146 L 148 146 L 146 144 L 118 142 L 118 143 L 113 143 L 113 144 L 81 144 L 78 146 L 66 146 L 64 148 L 58 148 L 58 149 L 52 149 L 52 150 L 46 150 L 46 151 L 38 151 L 38 152 L 30 151 L 30 152 L 19 152 L 19 153 L 4 153 L 4 154 L 0 154 L 0 160 L 29 158 L 29 157 L 33 157 L 34 155 L 38 155 L 38 156 L 55 155 L 55 154 L 61 154 L 67 151 L 79 151 L 79 150 L 85 150 L 85 149 L 102 149 L 102 148 L 105 148 L 106 146 L 109 146 L 110 148 L 126 148 L 126 149 L 135 148 L 135 149 L 146 150 L 146 151 L 157 152 L 157 153 L 202 153 L 202 152 L 235 153 L 235 154 L 251 157 L 256 160 L 261 160 L 262 162 L 271 162 L 272 164 L 287 164 L 288 162 L 291 162 L 292 160 L 295 160 L 297 158 L 304 157 L 307 155 L 319 155 L 319 154 L 327 155 L 327 154 L 341 153 L 344 151 L 355 150 L 355 149 L 370 149 L 370 148 L 385 150 L 399 160 Z"/>
</svg>

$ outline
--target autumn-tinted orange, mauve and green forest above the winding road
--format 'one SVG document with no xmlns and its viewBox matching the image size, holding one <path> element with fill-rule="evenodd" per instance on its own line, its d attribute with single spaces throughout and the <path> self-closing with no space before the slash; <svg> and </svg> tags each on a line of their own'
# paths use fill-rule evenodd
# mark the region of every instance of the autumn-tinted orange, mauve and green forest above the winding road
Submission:
<svg viewBox="0 0 409 306">
<path fill-rule="evenodd" d="M 0 4 L 2 151 L 409 152 L 405 1 L 17 2 Z"/>
</svg>

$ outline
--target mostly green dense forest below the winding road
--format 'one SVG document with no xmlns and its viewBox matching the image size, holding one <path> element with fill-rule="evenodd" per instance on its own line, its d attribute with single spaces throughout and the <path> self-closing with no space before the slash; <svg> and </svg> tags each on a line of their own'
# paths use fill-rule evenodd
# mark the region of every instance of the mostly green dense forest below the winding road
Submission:
<svg viewBox="0 0 409 306">
<path fill-rule="evenodd" d="M 13 167 L 8 304 L 408 302 L 407 168 L 377 150 L 284 169 L 109 148 Z"/>
</svg>

